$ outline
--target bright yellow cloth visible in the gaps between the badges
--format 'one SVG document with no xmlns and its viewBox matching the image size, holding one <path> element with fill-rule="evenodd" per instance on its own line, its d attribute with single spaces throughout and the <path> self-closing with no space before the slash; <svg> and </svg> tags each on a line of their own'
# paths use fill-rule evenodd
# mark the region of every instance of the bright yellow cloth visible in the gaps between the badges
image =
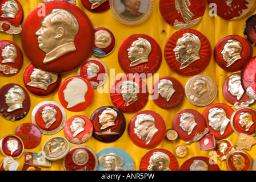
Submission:
<svg viewBox="0 0 256 182">
<path fill-rule="evenodd" d="M 42 0 L 19 0 L 19 3 L 21 3 L 21 5 L 23 7 L 23 11 L 24 11 L 23 22 L 24 22 L 26 17 L 29 15 L 30 11 L 32 11 L 35 7 L 37 7 L 39 3 L 43 3 L 43 1 Z M 171 27 L 169 24 L 167 24 L 162 19 L 162 16 L 159 12 L 158 4 L 159 4 L 159 0 L 155 0 L 153 12 L 151 13 L 150 17 L 145 22 L 135 25 L 135 26 L 128 26 L 126 24 L 119 22 L 117 19 L 115 19 L 114 15 L 111 13 L 110 9 L 105 11 L 104 13 L 91 13 L 90 11 L 85 9 L 85 7 L 83 7 L 81 1 L 77 0 L 77 6 L 80 7 L 83 11 L 85 11 L 85 13 L 91 19 L 91 22 L 93 23 L 94 27 L 109 28 L 111 31 L 113 31 L 113 33 L 115 35 L 116 45 L 115 45 L 114 51 L 110 55 L 100 58 L 102 61 L 104 61 L 107 64 L 109 73 L 110 73 L 110 69 L 115 70 L 115 75 L 117 75 L 119 73 L 123 73 L 121 67 L 118 64 L 118 60 L 117 60 L 118 48 L 119 48 L 120 44 L 123 42 L 123 40 L 125 40 L 130 35 L 146 34 L 146 35 L 151 36 L 158 42 L 159 46 L 162 49 L 162 54 L 163 54 L 163 50 L 165 48 L 167 39 L 169 39 L 169 37 L 174 32 L 178 31 L 178 29 Z M 216 17 L 209 16 L 209 11 L 210 11 L 209 5 L 208 5 L 208 3 L 206 3 L 206 11 L 205 11 L 205 15 L 203 16 L 203 19 L 201 20 L 201 22 L 199 22 L 196 26 L 194 26 L 192 28 L 196 29 L 198 31 L 201 31 L 204 35 L 206 35 L 206 37 L 209 39 L 209 41 L 211 43 L 211 47 L 212 47 L 213 51 L 214 51 L 215 45 L 223 37 L 225 37 L 227 35 L 232 35 L 232 34 L 243 36 L 243 27 L 244 27 L 246 19 L 249 18 L 251 15 L 253 15 L 256 12 L 256 10 L 255 10 L 255 11 L 251 12 L 250 14 L 248 14 L 245 18 L 242 18 L 240 20 L 227 21 L 227 20 L 220 18 L 219 16 L 216 16 Z M 33 25 L 31 25 L 31 26 L 33 26 Z M 163 30 L 165 30 L 165 32 L 163 32 Z M 21 34 L 9 35 L 9 34 L 5 34 L 4 32 L 0 32 L 0 38 L 1 38 L 1 40 L 11 40 L 11 41 L 17 43 L 23 52 L 22 42 L 21 42 Z M 253 47 L 253 51 L 255 52 L 255 47 Z M 19 84 L 19 85 L 23 86 L 23 88 L 25 88 L 25 85 L 23 83 L 23 72 L 24 72 L 25 68 L 27 67 L 27 65 L 30 64 L 30 60 L 27 59 L 24 52 L 23 52 L 23 57 L 24 57 L 24 62 L 23 62 L 23 67 L 22 67 L 21 71 L 13 77 L 1 76 L 0 86 L 3 86 L 7 83 L 15 83 L 15 84 Z M 94 57 L 94 56 L 92 56 L 92 57 Z M 183 87 L 185 87 L 186 82 L 190 78 L 190 77 L 179 76 L 179 75 L 175 74 L 174 72 L 172 72 L 171 69 L 166 64 L 164 56 L 162 59 L 161 67 L 158 69 L 158 71 L 156 73 L 159 74 L 159 78 L 163 77 L 163 76 L 171 76 L 171 77 L 177 78 L 179 81 L 181 81 Z M 233 72 L 226 72 L 223 69 L 221 69 L 217 65 L 217 63 L 215 63 L 214 56 L 211 57 L 209 66 L 201 74 L 210 76 L 214 80 L 215 84 L 217 85 L 218 94 L 212 104 L 223 103 L 223 104 L 232 106 L 231 104 L 229 104 L 229 102 L 227 102 L 225 100 L 225 98 L 223 98 L 223 95 L 222 95 L 222 84 L 225 81 L 225 79 L 232 73 Z M 63 74 L 62 81 L 64 81 L 66 78 L 68 78 L 70 76 L 77 76 L 77 70 L 70 72 L 70 73 Z M 110 74 L 109 74 L 109 76 L 110 76 Z M 152 79 L 154 82 L 154 76 L 152 77 Z M 105 86 L 109 86 L 109 88 L 110 88 L 110 86 L 113 84 L 114 80 L 115 80 L 114 77 L 109 78 L 109 80 L 106 82 Z M 151 85 L 148 85 L 148 86 L 149 86 L 149 90 L 151 90 Z M 48 97 L 36 97 L 31 93 L 29 93 L 29 96 L 30 96 L 30 100 L 31 100 L 31 107 L 30 107 L 29 113 L 27 114 L 27 116 L 25 118 L 21 119 L 20 121 L 11 122 L 11 121 L 8 121 L 8 120 L 0 117 L 0 138 L 4 137 L 5 135 L 8 135 L 8 134 L 15 134 L 15 130 L 22 123 L 27 123 L 27 122 L 31 123 L 31 112 L 32 112 L 33 108 L 40 102 L 55 101 L 55 102 L 59 103 L 58 92 L 55 92 L 54 94 L 52 94 L 51 96 L 48 96 Z M 67 119 L 69 119 L 70 117 L 73 117 L 74 115 L 77 115 L 77 114 L 82 114 L 82 115 L 85 115 L 87 118 L 90 118 L 91 114 L 96 109 L 98 109 L 98 107 L 107 106 L 107 105 L 113 105 L 110 100 L 110 94 L 109 93 L 100 94 L 100 93 L 98 93 L 97 89 L 94 89 L 93 103 L 89 107 L 87 107 L 86 110 L 78 112 L 78 113 L 70 112 L 70 111 L 66 110 Z M 195 109 L 195 110 L 199 111 L 199 113 L 202 114 L 203 111 L 206 109 L 206 107 L 207 106 L 205 106 L 205 107 L 194 106 L 194 105 L 190 104 L 190 102 L 185 97 L 182 104 L 175 109 L 171 109 L 171 110 L 161 109 L 160 107 L 158 107 L 157 105 L 154 104 L 153 100 L 149 100 L 147 102 L 147 104 L 145 105 L 145 107 L 143 107 L 142 110 L 153 110 L 153 111 L 156 111 L 157 113 L 161 114 L 163 119 L 166 122 L 166 128 L 170 129 L 173 126 L 173 118 L 179 111 L 181 111 L 183 109 Z M 252 106 L 252 107 L 255 107 L 255 106 Z M 234 106 L 232 106 L 232 108 L 234 109 Z M 119 138 L 115 142 L 104 143 L 104 142 L 99 142 L 94 137 L 91 137 L 89 140 L 87 140 L 86 143 L 84 143 L 84 145 L 92 148 L 96 153 L 101 151 L 102 149 L 108 148 L 108 147 L 122 148 L 123 150 L 125 150 L 126 152 L 128 152 L 130 154 L 131 158 L 133 158 L 133 160 L 134 160 L 135 169 L 139 170 L 139 163 L 141 161 L 141 158 L 143 157 L 143 155 L 146 154 L 147 151 L 150 151 L 151 149 L 140 148 L 140 147 L 136 146 L 131 141 L 129 134 L 127 132 L 127 127 L 129 125 L 130 119 L 133 117 L 133 115 L 135 113 L 131 113 L 131 114 L 124 113 L 124 114 L 125 114 L 125 118 L 126 118 L 126 130 L 125 130 L 125 133 L 123 133 L 121 138 Z M 43 135 L 42 134 L 41 143 L 33 149 L 30 149 L 30 150 L 25 149 L 25 151 L 29 151 L 29 152 L 41 151 L 43 144 L 46 142 L 46 140 L 48 140 L 52 137 L 55 137 L 55 136 L 63 136 L 64 137 L 63 129 L 54 135 Z M 238 135 L 236 133 L 233 133 L 227 139 L 230 139 L 235 146 L 235 143 L 237 142 L 237 139 L 238 139 Z M 218 142 L 218 140 L 216 140 L 216 143 L 217 142 Z M 169 142 L 166 139 L 164 139 L 155 148 L 165 148 L 166 150 L 169 150 L 170 152 L 172 152 L 174 154 L 174 148 L 181 144 L 186 145 L 185 143 L 186 142 L 181 139 L 177 139 L 174 142 Z M 70 143 L 70 147 L 72 147 L 72 146 L 75 146 L 75 144 Z M 185 156 L 185 158 L 177 158 L 179 167 L 181 167 L 182 163 L 185 162 L 185 160 L 187 160 L 193 156 L 206 156 L 209 158 L 211 158 L 213 156 L 213 155 L 209 155 L 209 152 L 213 151 L 213 150 L 206 150 L 206 151 L 199 150 L 199 145 L 197 142 L 195 142 L 191 145 L 186 145 L 186 147 L 188 148 L 188 154 Z M 250 151 L 246 151 L 251 156 L 252 162 L 256 156 L 254 147 L 256 147 L 256 146 L 253 146 Z M 4 157 L 5 156 L 0 154 L 0 162 L 2 162 Z M 21 168 L 23 166 L 23 162 L 24 162 L 24 155 L 22 155 L 20 158 L 18 158 L 16 160 L 19 162 L 18 170 L 21 170 Z M 221 162 L 219 159 L 217 159 L 217 163 L 221 170 L 228 170 L 228 168 L 226 166 L 226 162 Z M 45 170 L 45 171 L 46 170 L 63 170 L 62 160 L 57 160 L 57 161 L 51 162 L 51 168 L 41 167 L 41 169 Z"/>
</svg>

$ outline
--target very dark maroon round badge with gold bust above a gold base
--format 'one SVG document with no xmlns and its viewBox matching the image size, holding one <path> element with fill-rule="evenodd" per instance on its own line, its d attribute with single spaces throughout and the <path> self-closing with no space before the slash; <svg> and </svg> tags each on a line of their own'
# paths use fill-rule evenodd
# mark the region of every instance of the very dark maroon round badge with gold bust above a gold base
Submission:
<svg viewBox="0 0 256 182">
<path fill-rule="evenodd" d="M 125 132 L 125 116 L 116 107 L 99 107 L 90 120 L 94 127 L 93 137 L 101 142 L 114 142 Z"/>
</svg>

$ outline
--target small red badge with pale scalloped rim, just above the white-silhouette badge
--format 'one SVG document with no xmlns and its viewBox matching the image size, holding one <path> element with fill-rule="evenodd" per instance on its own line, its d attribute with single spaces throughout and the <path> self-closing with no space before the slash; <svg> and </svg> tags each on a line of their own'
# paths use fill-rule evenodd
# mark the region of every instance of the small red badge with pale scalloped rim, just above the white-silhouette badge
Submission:
<svg viewBox="0 0 256 182">
<path fill-rule="evenodd" d="M 79 69 L 78 76 L 90 81 L 93 88 L 98 88 L 105 84 L 108 71 L 107 65 L 100 59 L 90 57 Z"/>
</svg>

